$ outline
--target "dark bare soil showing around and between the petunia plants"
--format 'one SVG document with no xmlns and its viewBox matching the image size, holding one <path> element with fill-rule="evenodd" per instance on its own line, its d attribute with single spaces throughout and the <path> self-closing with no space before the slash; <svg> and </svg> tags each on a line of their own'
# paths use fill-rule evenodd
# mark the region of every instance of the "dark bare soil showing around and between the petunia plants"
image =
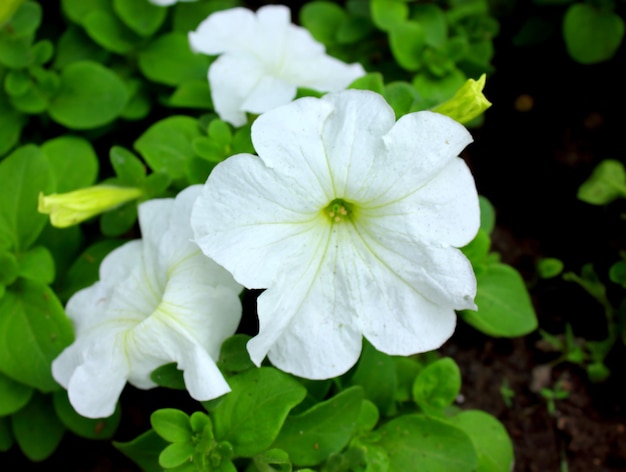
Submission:
<svg viewBox="0 0 626 472">
<path fill-rule="evenodd" d="M 623 204 L 592 206 L 576 198 L 579 186 L 603 159 L 624 160 L 624 48 L 608 62 L 578 64 L 564 54 L 556 31 L 545 41 L 515 44 L 532 7 L 501 11 L 495 42 L 495 72 L 485 94 L 494 103 L 475 143 L 464 154 L 479 192 L 496 208 L 494 249 L 523 275 L 541 330 L 564 333 L 569 324 L 579 342 L 606 336 L 603 308 L 577 284 L 557 276 L 542 279 L 537 263 L 563 261 L 580 273 L 592 262 L 606 280 L 624 244 Z M 541 14 L 546 16 L 546 10 Z M 554 12 L 553 24 L 558 24 Z M 549 16 L 549 15 L 548 15 Z M 616 287 L 608 285 L 609 295 Z M 254 309 L 254 293 L 245 309 Z M 539 331 L 523 338 L 486 336 L 460 322 L 442 353 L 461 367 L 463 408 L 495 415 L 513 440 L 519 471 L 618 471 L 626 468 L 624 347 L 606 359 L 610 376 L 593 383 L 572 362 L 555 363 L 559 353 Z M 184 393 L 162 389 L 145 395 L 127 387 L 123 422 L 115 436 L 127 441 L 150 427 L 148 412 L 175 403 Z M 189 411 L 193 405 L 189 404 Z M 19 450 L 3 454 L 20 470 L 138 470 L 108 441 L 67 434 L 47 460 L 32 463 Z M 6 462 L 5 462 L 6 461 Z M 564 467 L 567 467 L 565 469 Z"/>
</svg>

